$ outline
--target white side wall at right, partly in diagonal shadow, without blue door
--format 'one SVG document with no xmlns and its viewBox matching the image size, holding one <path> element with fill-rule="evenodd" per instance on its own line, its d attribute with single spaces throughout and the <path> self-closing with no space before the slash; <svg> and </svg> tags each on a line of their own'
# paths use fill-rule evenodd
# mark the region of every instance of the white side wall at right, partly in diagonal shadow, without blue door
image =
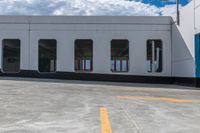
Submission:
<svg viewBox="0 0 200 133">
<path fill-rule="evenodd" d="M 194 1 L 180 11 L 180 26 L 172 25 L 172 75 L 195 77 Z"/>
</svg>

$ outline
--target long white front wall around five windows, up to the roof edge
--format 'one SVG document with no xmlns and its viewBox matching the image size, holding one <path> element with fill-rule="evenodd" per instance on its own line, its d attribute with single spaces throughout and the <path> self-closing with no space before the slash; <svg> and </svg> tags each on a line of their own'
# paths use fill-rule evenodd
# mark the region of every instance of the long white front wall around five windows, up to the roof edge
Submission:
<svg viewBox="0 0 200 133">
<path fill-rule="evenodd" d="M 112 73 L 110 71 L 111 40 L 128 39 L 130 71 L 118 74 L 171 76 L 170 17 L 70 18 L 23 17 L 13 19 L 12 17 L 2 17 L 0 19 L 0 39 L 20 39 L 21 70 L 36 71 L 38 70 L 38 40 L 56 39 L 57 71 L 65 72 L 74 72 L 74 41 L 76 39 L 92 39 L 93 73 L 104 74 Z M 29 21 L 31 21 L 30 25 Z M 148 39 L 163 41 L 163 72 L 161 73 L 148 73 L 146 70 L 146 41 Z M 2 55 L 1 51 L 0 55 Z"/>
</svg>

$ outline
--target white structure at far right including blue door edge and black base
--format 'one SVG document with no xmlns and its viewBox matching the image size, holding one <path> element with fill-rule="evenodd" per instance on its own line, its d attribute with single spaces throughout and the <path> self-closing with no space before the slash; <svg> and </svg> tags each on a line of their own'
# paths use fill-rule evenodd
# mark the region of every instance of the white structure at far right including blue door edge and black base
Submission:
<svg viewBox="0 0 200 133">
<path fill-rule="evenodd" d="M 180 10 L 180 25 L 172 25 L 172 76 L 196 86 L 200 86 L 199 33 L 200 0 L 192 0 Z"/>
</svg>

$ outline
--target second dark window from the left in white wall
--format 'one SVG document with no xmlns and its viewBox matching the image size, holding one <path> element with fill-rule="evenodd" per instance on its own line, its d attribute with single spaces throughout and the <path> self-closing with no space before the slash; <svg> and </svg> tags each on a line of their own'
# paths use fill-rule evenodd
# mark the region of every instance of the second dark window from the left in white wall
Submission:
<svg viewBox="0 0 200 133">
<path fill-rule="evenodd" d="M 56 71 L 56 45 L 54 39 L 39 40 L 39 71 Z"/>
</svg>

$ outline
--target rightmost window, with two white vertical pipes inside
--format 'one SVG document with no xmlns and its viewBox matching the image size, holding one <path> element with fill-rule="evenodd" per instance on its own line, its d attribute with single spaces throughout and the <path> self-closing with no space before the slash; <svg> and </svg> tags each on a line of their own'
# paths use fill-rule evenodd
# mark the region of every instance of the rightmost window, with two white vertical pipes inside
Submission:
<svg viewBox="0 0 200 133">
<path fill-rule="evenodd" d="M 162 72 L 162 41 L 147 41 L 147 71 Z"/>
</svg>

